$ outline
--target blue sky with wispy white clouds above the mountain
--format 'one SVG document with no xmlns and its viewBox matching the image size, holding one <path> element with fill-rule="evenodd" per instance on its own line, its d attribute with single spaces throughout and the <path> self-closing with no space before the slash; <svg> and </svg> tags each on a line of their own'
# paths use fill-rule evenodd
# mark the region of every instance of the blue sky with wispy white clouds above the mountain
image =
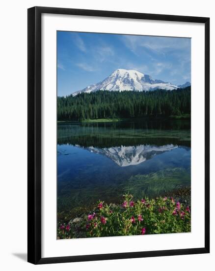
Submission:
<svg viewBox="0 0 215 271">
<path fill-rule="evenodd" d="M 135 69 L 172 84 L 190 82 L 189 38 L 57 32 L 57 95 Z"/>
</svg>

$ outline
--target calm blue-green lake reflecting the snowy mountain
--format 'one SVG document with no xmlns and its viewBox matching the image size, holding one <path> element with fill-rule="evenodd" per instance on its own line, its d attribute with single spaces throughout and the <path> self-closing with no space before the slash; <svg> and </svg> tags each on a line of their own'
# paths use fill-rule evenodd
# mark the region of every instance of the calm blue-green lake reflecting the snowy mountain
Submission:
<svg viewBox="0 0 215 271">
<path fill-rule="evenodd" d="M 58 123 L 57 210 L 190 187 L 190 121 Z"/>
</svg>

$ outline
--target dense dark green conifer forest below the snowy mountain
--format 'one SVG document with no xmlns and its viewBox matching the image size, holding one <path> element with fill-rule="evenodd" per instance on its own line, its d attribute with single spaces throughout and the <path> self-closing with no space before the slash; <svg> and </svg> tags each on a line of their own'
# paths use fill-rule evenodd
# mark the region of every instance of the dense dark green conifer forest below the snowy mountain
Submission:
<svg viewBox="0 0 215 271">
<path fill-rule="evenodd" d="M 96 91 L 57 98 L 58 120 L 190 114 L 191 87 L 155 91 Z"/>
</svg>

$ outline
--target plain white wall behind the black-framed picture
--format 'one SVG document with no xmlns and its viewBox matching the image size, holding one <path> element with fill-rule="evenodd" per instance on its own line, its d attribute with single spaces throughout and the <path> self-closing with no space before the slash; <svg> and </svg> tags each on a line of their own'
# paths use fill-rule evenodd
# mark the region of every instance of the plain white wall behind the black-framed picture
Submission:
<svg viewBox="0 0 215 271">
<path fill-rule="evenodd" d="M 213 1 L 204 0 L 151 0 L 151 1 L 96 1 L 79 0 L 7 0 L 1 3 L 0 15 L 0 74 L 1 76 L 1 129 L 0 129 L 0 267 L 7 271 L 19 270 L 212 270 L 215 257 L 215 202 L 211 203 L 211 254 L 103 262 L 72 263 L 33 266 L 27 259 L 27 8 L 31 6 L 58 6 L 85 9 L 104 9 L 173 15 L 211 17 L 211 60 L 215 53 L 215 15 Z M 211 101 L 214 101 L 215 63 L 211 63 Z M 3 95 L 3 97 L 2 97 Z M 213 106 L 213 102 L 211 102 Z M 215 108 L 211 111 L 213 119 Z M 211 125 L 213 125 L 211 121 Z M 215 127 L 211 127 L 211 137 Z M 211 143 L 213 166 L 213 149 Z M 211 179 L 215 174 L 213 172 Z M 215 183 L 211 182 L 211 194 Z M 200 214 L 201 215 L 201 214 Z M 202 218 L 203 219 L 203 218 Z"/>
</svg>

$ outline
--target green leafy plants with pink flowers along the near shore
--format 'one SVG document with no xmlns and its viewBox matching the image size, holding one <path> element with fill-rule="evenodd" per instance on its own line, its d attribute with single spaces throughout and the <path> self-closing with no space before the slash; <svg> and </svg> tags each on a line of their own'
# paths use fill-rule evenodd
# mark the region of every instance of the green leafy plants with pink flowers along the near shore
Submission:
<svg viewBox="0 0 215 271">
<path fill-rule="evenodd" d="M 124 195 L 122 205 L 98 202 L 95 212 L 79 225 L 81 237 L 108 237 L 190 232 L 189 206 L 172 198 L 148 198 L 134 202 Z M 58 225 L 58 238 L 74 238 L 75 224 Z M 77 229 L 76 229 L 77 230 Z"/>
</svg>

